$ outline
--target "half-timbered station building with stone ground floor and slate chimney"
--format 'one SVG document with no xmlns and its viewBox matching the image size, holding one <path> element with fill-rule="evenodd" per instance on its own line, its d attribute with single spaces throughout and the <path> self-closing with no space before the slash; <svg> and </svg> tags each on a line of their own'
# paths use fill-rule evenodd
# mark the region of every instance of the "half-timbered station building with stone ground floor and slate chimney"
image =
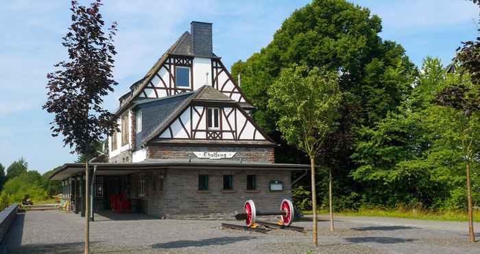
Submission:
<svg viewBox="0 0 480 254">
<path fill-rule="evenodd" d="M 274 209 L 291 198 L 291 171 L 308 167 L 275 163 L 275 141 L 252 119 L 254 107 L 212 41 L 211 23 L 192 22 L 120 97 L 121 131 L 108 137 L 107 158 L 92 163 L 94 211 L 232 216 L 248 199 Z M 76 212 L 83 211 L 83 167 L 68 163 L 51 176 Z"/>
</svg>

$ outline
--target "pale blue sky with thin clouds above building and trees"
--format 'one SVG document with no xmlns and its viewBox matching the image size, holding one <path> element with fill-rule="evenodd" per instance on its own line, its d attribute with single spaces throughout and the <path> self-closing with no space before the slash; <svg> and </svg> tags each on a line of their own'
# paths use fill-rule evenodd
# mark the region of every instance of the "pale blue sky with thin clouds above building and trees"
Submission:
<svg viewBox="0 0 480 254">
<path fill-rule="evenodd" d="M 86 1 L 82 1 L 85 3 Z M 425 56 L 448 63 L 459 46 L 477 36 L 478 8 L 463 0 L 352 1 L 383 20 L 384 39 L 400 43 L 420 66 Z M 213 47 L 230 67 L 272 40 L 281 23 L 309 1 L 106 0 L 106 21 L 117 21 L 115 93 L 105 107 L 146 71 L 191 21 L 213 23 Z M 31 170 L 46 172 L 76 156 L 51 137 L 45 102 L 46 73 L 66 58 L 60 45 L 69 25 L 69 1 L 5 1 L 0 8 L 0 163 L 25 157 Z"/>
</svg>

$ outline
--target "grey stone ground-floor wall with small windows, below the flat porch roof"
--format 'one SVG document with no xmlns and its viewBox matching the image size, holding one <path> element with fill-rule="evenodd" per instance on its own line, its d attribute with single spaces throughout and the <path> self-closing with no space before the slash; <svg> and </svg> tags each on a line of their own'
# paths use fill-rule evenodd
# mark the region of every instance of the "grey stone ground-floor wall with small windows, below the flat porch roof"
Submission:
<svg viewBox="0 0 480 254">
<path fill-rule="evenodd" d="M 291 199 L 289 171 L 274 170 L 165 170 L 149 172 L 148 194 L 139 198 L 143 212 L 152 216 L 176 219 L 232 219 L 243 210 L 245 200 L 252 199 L 257 210 L 280 210 L 283 198 Z M 160 175 L 163 190 L 158 188 Z M 198 190 L 198 175 L 208 175 L 208 190 Z M 233 175 L 233 189 L 223 189 L 223 175 Z M 256 175 L 256 189 L 247 190 L 247 175 Z M 270 192 L 270 181 L 282 181 L 283 191 Z M 153 181 L 157 181 L 156 191 Z M 138 196 L 138 175 L 132 175 L 132 197 Z"/>
</svg>

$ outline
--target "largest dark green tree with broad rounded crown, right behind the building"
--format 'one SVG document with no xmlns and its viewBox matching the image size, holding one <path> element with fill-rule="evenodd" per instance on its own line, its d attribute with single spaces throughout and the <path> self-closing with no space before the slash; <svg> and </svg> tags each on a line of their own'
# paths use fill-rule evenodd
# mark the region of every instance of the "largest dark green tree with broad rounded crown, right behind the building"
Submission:
<svg viewBox="0 0 480 254">
<path fill-rule="evenodd" d="M 232 75 L 241 74 L 241 87 L 257 108 L 254 119 L 284 145 L 278 149 L 278 161 L 290 163 L 307 161 L 280 139 L 275 126 L 280 115 L 268 108 L 265 94 L 280 71 L 294 64 L 339 73 L 344 93 L 339 126 L 328 135 L 323 148 L 328 154 L 324 163 L 335 167 L 339 175 L 339 187 L 335 189 L 341 193 L 337 195 L 350 196 L 355 189 L 363 188 L 348 176 L 350 169 L 357 167 L 350 159 L 357 130 L 374 126 L 387 112 L 396 111 L 411 92 L 417 74 L 403 47 L 379 36 L 381 29 L 379 16 L 366 8 L 343 0 L 314 0 L 293 12 L 269 45 L 232 66 Z"/>
</svg>

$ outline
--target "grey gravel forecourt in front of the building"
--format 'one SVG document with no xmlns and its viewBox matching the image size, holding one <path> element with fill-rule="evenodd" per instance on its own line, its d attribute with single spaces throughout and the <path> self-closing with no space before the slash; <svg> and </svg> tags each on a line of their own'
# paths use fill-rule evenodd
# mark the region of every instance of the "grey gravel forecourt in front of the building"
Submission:
<svg viewBox="0 0 480 254">
<path fill-rule="evenodd" d="M 383 218 L 385 220 L 385 218 Z M 422 221 L 418 221 L 420 226 Z M 240 222 L 228 222 L 241 224 Z M 388 224 L 389 223 L 389 224 Z M 442 222 L 437 222 L 442 223 Z M 480 253 L 466 233 L 424 229 L 400 222 L 339 218 L 335 232 L 320 220 L 318 242 L 311 244 L 311 222 L 295 222 L 306 233 L 267 233 L 219 229 L 215 220 L 159 220 L 140 214 L 97 216 L 91 222 L 93 253 Z M 19 214 L 3 245 L 9 253 L 82 253 L 84 218 L 59 211 Z M 480 235 L 479 235 L 480 237 Z"/>
</svg>

